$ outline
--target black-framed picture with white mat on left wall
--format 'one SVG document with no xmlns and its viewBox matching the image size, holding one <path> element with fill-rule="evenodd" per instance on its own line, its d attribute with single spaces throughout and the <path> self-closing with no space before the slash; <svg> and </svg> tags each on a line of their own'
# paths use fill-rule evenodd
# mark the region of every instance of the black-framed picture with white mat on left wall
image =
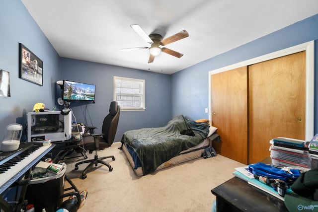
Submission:
<svg viewBox="0 0 318 212">
<path fill-rule="evenodd" d="M 19 43 L 19 78 L 43 86 L 43 61 Z"/>
</svg>

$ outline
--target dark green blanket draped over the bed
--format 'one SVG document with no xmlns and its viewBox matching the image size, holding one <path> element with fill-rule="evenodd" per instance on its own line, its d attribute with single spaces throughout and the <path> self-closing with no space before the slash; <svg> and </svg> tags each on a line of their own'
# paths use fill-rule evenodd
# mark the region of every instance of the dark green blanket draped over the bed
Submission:
<svg viewBox="0 0 318 212">
<path fill-rule="evenodd" d="M 180 134 L 188 128 L 194 132 L 194 136 Z M 170 120 L 165 127 L 127 131 L 121 142 L 135 150 L 146 175 L 181 151 L 201 143 L 207 138 L 208 133 L 207 123 L 188 121 L 179 115 Z"/>
</svg>

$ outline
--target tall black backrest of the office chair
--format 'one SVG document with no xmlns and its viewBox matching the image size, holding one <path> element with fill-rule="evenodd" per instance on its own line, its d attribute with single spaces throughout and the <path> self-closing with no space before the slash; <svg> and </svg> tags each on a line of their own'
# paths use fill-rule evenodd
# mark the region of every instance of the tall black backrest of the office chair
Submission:
<svg viewBox="0 0 318 212">
<path fill-rule="evenodd" d="M 116 101 L 110 103 L 109 114 L 105 117 L 101 132 L 103 139 L 109 144 L 114 142 L 120 114 L 120 106 Z"/>
</svg>

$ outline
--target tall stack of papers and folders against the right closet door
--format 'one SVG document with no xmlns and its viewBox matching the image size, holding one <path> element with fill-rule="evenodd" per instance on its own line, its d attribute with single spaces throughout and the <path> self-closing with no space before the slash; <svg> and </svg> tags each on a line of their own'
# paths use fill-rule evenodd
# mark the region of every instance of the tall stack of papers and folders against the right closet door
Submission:
<svg viewBox="0 0 318 212">
<path fill-rule="evenodd" d="M 272 165 L 311 168 L 312 158 L 306 141 L 278 137 L 270 141 Z"/>
</svg>

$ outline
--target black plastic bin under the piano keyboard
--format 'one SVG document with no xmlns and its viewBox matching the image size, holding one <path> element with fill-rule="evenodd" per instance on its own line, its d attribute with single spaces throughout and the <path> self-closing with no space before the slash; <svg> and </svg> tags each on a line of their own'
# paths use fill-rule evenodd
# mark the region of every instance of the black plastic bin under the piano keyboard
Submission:
<svg viewBox="0 0 318 212">
<path fill-rule="evenodd" d="M 66 164 L 58 174 L 50 173 L 47 177 L 32 179 L 26 191 L 25 199 L 28 203 L 33 204 L 35 212 L 55 212 L 57 206 L 62 203 L 59 196 L 64 193 L 64 179 Z"/>
</svg>

